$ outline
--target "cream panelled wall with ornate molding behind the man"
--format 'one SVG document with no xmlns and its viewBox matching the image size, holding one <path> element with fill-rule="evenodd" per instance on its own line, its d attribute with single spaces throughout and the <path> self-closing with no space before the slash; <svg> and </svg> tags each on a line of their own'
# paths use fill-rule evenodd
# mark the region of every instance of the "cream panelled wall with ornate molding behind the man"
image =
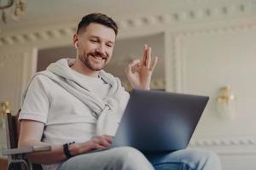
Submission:
<svg viewBox="0 0 256 170">
<path fill-rule="evenodd" d="M 224 170 L 253 169 L 256 4 L 183 2 L 183 6 L 173 4 L 172 9 L 177 8 L 172 11 L 166 7 L 157 14 L 116 17 L 119 39 L 164 33 L 166 89 L 211 97 L 189 147 L 216 151 Z M 9 98 L 17 110 L 21 90 L 35 71 L 35 49 L 70 45 L 74 29 L 73 24 L 61 23 L 1 35 L 0 100 Z M 224 85 L 231 85 L 236 95 L 233 120 L 219 117 L 216 111 L 218 89 Z"/>
</svg>

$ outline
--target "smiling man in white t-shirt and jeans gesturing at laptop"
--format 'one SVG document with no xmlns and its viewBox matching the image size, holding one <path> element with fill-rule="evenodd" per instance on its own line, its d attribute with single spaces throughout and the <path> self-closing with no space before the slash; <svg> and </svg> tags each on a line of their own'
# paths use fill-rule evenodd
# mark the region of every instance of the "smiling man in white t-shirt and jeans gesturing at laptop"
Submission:
<svg viewBox="0 0 256 170">
<path fill-rule="evenodd" d="M 114 121 L 119 121 L 129 94 L 118 78 L 103 71 L 111 59 L 118 33 L 105 14 L 88 14 L 80 21 L 73 43 L 76 59 L 61 59 L 32 77 L 20 111 L 19 147 L 50 144 L 52 150 L 29 155 L 44 169 L 204 169 L 219 170 L 218 156 L 207 151 L 178 150 L 144 156 L 131 147 L 98 152 L 112 143 Z M 133 88 L 149 89 L 157 63 L 151 48 L 125 69 Z M 103 121 L 100 121 L 103 120 Z M 104 128 L 101 128 L 104 127 Z"/>
</svg>

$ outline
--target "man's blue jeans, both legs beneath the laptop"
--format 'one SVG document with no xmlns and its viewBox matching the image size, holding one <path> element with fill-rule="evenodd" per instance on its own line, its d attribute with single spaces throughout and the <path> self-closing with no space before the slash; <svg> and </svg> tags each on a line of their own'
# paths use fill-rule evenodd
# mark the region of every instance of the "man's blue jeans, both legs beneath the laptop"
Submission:
<svg viewBox="0 0 256 170">
<path fill-rule="evenodd" d="M 218 156 L 205 150 L 144 154 L 131 147 L 74 156 L 58 170 L 221 170 Z"/>
</svg>

